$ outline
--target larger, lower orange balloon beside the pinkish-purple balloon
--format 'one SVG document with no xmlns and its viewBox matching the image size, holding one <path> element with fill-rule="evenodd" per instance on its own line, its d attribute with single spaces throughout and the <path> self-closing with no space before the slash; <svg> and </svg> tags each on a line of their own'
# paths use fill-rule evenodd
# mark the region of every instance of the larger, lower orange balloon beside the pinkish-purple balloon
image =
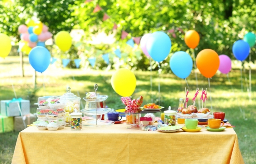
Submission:
<svg viewBox="0 0 256 164">
<path fill-rule="evenodd" d="M 219 55 L 214 50 L 204 49 L 196 56 L 196 66 L 204 77 L 211 78 L 219 69 Z"/>
</svg>

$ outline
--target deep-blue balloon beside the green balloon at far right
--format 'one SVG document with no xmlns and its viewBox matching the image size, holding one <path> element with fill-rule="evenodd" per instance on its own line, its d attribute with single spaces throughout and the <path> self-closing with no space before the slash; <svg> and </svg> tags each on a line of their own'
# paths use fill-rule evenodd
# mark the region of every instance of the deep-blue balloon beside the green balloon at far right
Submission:
<svg viewBox="0 0 256 164">
<path fill-rule="evenodd" d="M 250 45 L 244 40 L 237 40 L 232 47 L 233 54 L 237 60 L 245 60 L 250 53 Z"/>
</svg>

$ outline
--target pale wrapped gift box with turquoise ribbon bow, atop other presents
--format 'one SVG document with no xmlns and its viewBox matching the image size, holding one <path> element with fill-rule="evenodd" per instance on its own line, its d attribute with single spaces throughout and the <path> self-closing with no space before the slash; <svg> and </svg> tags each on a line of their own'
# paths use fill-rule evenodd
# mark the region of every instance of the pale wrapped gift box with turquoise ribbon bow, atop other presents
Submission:
<svg viewBox="0 0 256 164">
<path fill-rule="evenodd" d="M 30 101 L 22 98 L 13 98 L 11 100 L 1 100 L 1 115 L 3 116 L 21 116 L 19 106 L 22 115 L 30 113 Z M 19 106 L 18 106 L 19 104 Z"/>
</svg>

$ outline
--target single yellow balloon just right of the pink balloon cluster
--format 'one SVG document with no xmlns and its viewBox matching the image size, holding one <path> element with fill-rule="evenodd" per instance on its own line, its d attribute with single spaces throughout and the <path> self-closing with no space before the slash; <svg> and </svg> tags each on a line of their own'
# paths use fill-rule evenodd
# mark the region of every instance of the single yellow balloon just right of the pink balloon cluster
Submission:
<svg viewBox="0 0 256 164">
<path fill-rule="evenodd" d="M 60 31 L 55 37 L 55 43 L 62 51 L 68 51 L 72 45 L 72 38 L 68 32 Z"/>
</svg>

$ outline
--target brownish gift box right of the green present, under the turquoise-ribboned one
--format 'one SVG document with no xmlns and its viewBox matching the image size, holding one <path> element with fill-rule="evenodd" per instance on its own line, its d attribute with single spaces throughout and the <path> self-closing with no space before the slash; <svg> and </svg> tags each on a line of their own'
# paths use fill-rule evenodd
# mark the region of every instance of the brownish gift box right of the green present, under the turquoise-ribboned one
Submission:
<svg viewBox="0 0 256 164">
<path fill-rule="evenodd" d="M 23 120 L 25 121 L 25 124 L 23 123 Z M 14 117 L 14 130 L 16 132 L 20 132 L 21 130 L 24 130 L 27 128 L 27 125 L 32 124 L 33 122 L 37 121 L 37 117 L 34 114 L 27 114 L 22 116 L 16 116 Z"/>
</svg>

